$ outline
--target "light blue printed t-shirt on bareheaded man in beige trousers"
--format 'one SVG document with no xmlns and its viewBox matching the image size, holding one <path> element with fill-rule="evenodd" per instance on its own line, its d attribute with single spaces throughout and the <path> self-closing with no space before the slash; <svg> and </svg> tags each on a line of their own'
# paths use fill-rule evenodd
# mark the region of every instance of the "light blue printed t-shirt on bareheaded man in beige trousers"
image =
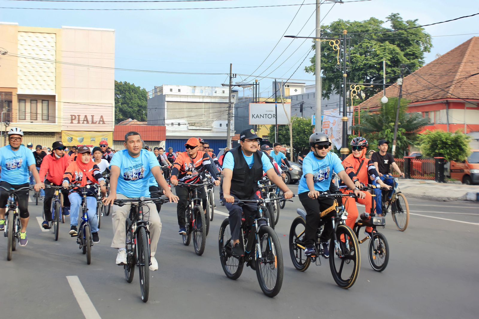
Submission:
<svg viewBox="0 0 479 319">
<path fill-rule="evenodd" d="M 110 168 L 112 166 L 120 168 L 116 187 L 117 194 L 130 198 L 150 197 L 149 186 L 153 176 L 151 169 L 160 166 L 153 152 L 142 149 L 140 156 L 133 158 L 128 154 L 127 149 L 122 149 L 113 155 Z"/>
</svg>

